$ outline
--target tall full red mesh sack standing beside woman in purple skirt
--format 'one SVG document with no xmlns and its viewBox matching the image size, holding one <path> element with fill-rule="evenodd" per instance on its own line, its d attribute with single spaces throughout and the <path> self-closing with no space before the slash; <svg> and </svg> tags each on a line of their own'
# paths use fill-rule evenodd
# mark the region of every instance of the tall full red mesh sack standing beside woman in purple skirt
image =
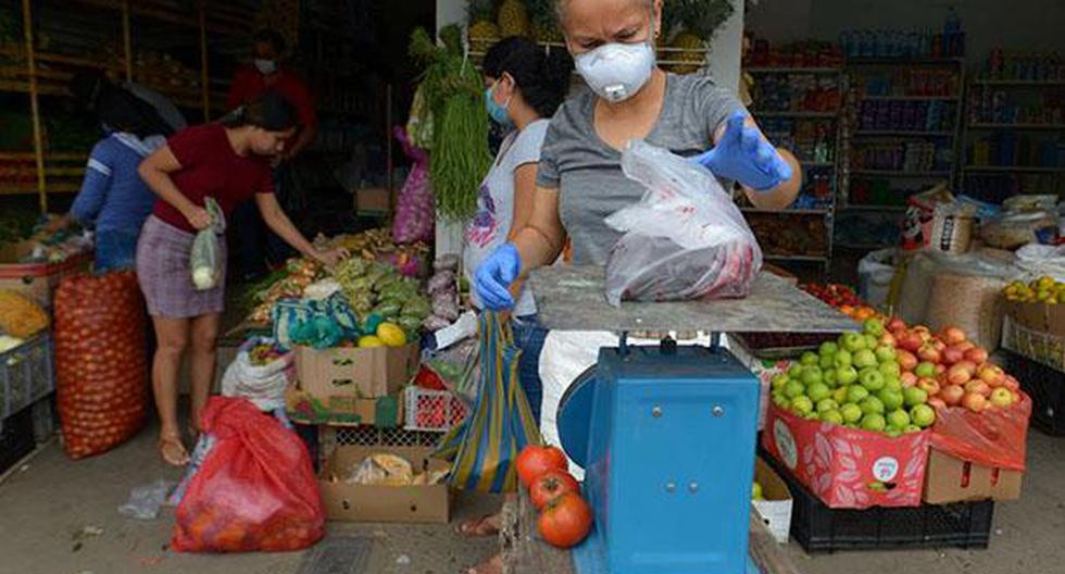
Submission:
<svg viewBox="0 0 1065 574">
<path fill-rule="evenodd" d="M 145 302 L 131 271 L 75 275 L 55 292 L 55 387 L 63 447 L 99 454 L 137 434 L 149 410 Z"/>
</svg>

